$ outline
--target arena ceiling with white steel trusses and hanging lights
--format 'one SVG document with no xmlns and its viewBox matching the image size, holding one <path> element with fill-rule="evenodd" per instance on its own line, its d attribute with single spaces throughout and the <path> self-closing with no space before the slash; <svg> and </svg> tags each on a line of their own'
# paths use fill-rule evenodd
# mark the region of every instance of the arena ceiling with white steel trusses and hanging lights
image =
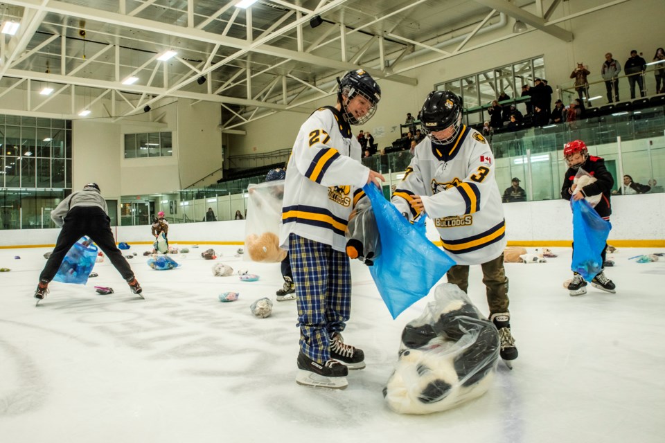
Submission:
<svg viewBox="0 0 665 443">
<path fill-rule="evenodd" d="M 104 102 L 103 117 L 118 119 L 188 98 L 219 103 L 222 130 L 242 133 L 310 112 L 345 71 L 414 85 L 412 69 L 511 38 L 516 19 L 570 41 L 562 22 L 624 1 L 569 12 L 561 0 L 8 0 L 1 20 L 20 26 L 0 35 L 0 100 L 18 88 L 25 115 L 67 96 L 62 114 Z M 481 38 L 490 28 L 499 37 Z"/>
</svg>

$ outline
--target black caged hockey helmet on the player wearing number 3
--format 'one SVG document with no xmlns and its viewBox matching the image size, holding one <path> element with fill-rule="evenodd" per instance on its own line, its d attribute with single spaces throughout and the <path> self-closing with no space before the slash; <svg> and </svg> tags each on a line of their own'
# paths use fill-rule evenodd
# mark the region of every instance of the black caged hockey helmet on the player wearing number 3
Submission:
<svg viewBox="0 0 665 443">
<path fill-rule="evenodd" d="M 457 137 L 462 127 L 462 103 L 459 97 L 450 91 L 432 91 L 425 99 L 418 116 L 423 134 L 427 135 L 432 143 L 445 145 Z M 448 138 L 439 139 L 431 134 L 451 126 L 454 131 Z"/>
</svg>

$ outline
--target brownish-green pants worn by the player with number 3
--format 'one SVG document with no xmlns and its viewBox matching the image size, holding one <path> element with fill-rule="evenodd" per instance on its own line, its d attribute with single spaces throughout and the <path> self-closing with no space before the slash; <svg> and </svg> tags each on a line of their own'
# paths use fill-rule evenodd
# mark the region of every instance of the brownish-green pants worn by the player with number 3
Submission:
<svg viewBox="0 0 665 443">
<path fill-rule="evenodd" d="M 490 315 L 497 312 L 508 312 L 508 278 L 504 269 L 504 255 L 481 264 L 483 269 L 483 283 L 486 286 L 487 304 Z M 449 283 L 456 284 L 464 292 L 469 287 L 469 266 L 456 264 L 447 272 Z"/>
</svg>

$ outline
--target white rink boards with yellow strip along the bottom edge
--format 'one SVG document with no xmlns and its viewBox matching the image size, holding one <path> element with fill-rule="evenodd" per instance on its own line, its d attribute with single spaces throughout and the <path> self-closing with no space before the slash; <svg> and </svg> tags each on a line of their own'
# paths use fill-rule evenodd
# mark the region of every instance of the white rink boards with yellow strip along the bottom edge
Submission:
<svg viewBox="0 0 665 443">
<path fill-rule="evenodd" d="M 529 201 L 504 204 L 508 242 L 544 246 L 569 242 L 572 238 L 572 215 L 565 200 Z M 612 197 L 612 231 L 610 243 L 618 246 L 665 246 L 665 193 Z M 113 228 L 118 242 L 150 242 L 150 226 Z M 3 247 L 53 245 L 60 229 L 0 230 Z M 431 223 L 427 235 L 438 240 Z M 168 233 L 172 244 L 245 241 L 245 221 L 209 221 L 172 224 Z M 623 243 L 621 242 L 623 241 Z M 632 242 L 631 242 L 632 241 Z"/>
</svg>

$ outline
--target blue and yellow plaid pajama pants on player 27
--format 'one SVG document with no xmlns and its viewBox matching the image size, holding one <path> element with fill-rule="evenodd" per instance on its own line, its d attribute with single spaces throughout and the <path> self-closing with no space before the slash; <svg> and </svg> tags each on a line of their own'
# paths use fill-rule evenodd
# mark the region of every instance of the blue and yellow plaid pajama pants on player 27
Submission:
<svg viewBox="0 0 665 443">
<path fill-rule="evenodd" d="M 330 334 L 351 315 L 351 269 L 346 253 L 296 234 L 289 236 L 296 284 L 300 349 L 319 363 L 330 359 Z"/>
</svg>

